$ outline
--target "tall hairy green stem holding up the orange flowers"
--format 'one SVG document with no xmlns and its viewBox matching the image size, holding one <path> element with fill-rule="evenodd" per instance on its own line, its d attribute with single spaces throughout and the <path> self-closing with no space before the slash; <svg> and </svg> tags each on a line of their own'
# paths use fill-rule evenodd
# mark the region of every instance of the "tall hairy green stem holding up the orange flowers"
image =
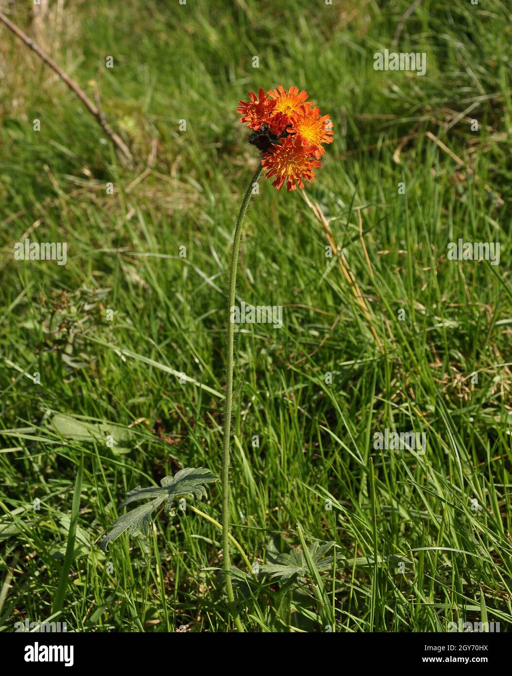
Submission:
<svg viewBox="0 0 512 676">
<path fill-rule="evenodd" d="M 228 345 L 226 349 L 226 406 L 224 408 L 224 438 L 222 439 L 222 556 L 224 560 L 224 573 L 226 575 L 226 591 L 228 592 L 228 602 L 238 631 L 244 631 L 238 610 L 234 603 L 233 585 L 230 573 L 230 512 L 229 512 L 229 470 L 230 470 L 230 437 L 231 437 L 231 410 L 233 404 L 233 345 L 234 345 L 234 324 L 231 322 L 231 308 L 234 306 L 234 294 L 236 290 L 236 270 L 238 268 L 238 251 L 240 251 L 240 237 L 242 235 L 242 225 L 245 218 L 245 212 L 249 206 L 253 185 L 257 183 L 261 176 L 263 168 L 261 163 L 254 172 L 251 183 L 245 191 L 242 206 L 238 212 L 236 226 L 233 235 L 233 251 L 231 254 L 230 271 L 230 291 L 228 299 Z"/>
</svg>

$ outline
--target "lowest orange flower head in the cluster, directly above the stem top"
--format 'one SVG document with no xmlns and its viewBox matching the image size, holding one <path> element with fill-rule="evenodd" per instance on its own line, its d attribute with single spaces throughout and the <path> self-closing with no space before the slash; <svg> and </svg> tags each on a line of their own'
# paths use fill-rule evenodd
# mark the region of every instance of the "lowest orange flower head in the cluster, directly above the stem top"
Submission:
<svg viewBox="0 0 512 676">
<path fill-rule="evenodd" d="M 303 188 L 303 178 L 313 180 L 315 178 L 313 168 L 321 164 L 310 155 L 311 152 L 297 139 L 288 136 L 282 140 L 281 145 L 274 145 L 272 151 L 263 153 L 261 164 L 265 171 L 268 170 L 265 177 L 276 176 L 272 185 L 278 190 L 282 188 L 285 180 L 288 190 L 297 190 L 297 185 Z"/>
</svg>

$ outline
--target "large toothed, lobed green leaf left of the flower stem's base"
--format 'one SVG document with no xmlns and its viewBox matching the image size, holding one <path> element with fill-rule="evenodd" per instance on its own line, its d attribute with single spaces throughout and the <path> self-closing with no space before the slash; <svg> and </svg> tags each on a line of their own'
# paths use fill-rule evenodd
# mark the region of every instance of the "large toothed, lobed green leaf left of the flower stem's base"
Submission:
<svg viewBox="0 0 512 676">
<path fill-rule="evenodd" d="M 186 467 L 177 472 L 174 477 L 163 477 L 160 482 L 161 487 L 143 488 L 137 486 L 126 494 L 126 500 L 121 504 L 121 507 L 125 507 L 135 500 L 153 499 L 146 504 L 139 505 L 130 512 L 126 512 L 126 514 L 122 514 L 101 542 L 101 549 L 106 552 L 109 542 L 113 542 L 124 531 L 128 531 L 130 535 L 142 534 L 147 537 L 152 521 L 151 514 L 164 500 L 166 500 L 165 513 L 174 516 L 175 510 L 172 506 L 174 500 L 185 496 L 199 500 L 206 498 L 207 493 L 204 484 L 214 483 L 215 481 L 217 481 L 217 477 L 214 477 L 209 469 Z"/>
</svg>

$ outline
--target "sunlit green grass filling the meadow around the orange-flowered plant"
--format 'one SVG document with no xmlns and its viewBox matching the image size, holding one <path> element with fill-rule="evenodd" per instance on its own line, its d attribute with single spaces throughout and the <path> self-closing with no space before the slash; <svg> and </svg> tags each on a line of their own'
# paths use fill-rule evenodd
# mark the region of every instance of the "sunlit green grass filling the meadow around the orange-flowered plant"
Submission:
<svg viewBox="0 0 512 676">
<path fill-rule="evenodd" d="M 396 47 L 427 54 L 424 77 L 373 68 L 409 0 L 70 4 L 59 14 L 50 3 L 39 34 L 30 3 L 10 16 L 89 96 L 97 89 L 138 168 L 0 26 L 0 629 L 62 604 L 68 631 L 233 630 L 221 533 L 191 508 L 220 521 L 220 483 L 207 502 L 155 518 L 147 540 L 124 535 L 106 556 L 99 541 L 136 485 L 186 466 L 220 475 L 230 244 L 257 163 L 236 104 L 296 84 L 332 116 L 307 195 L 370 322 L 301 195 L 262 179 L 238 298 L 283 306 L 283 327 L 236 335 L 232 534 L 260 565 L 335 546 L 319 573 L 306 552 L 295 586 L 251 578 L 233 547 L 245 628 L 443 631 L 486 612 L 510 630 L 507 3 L 424 0 Z M 132 185 L 153 143 L 155 164 Z M 68 264 L 14 261 L 27 231 L 66 241 Z M 448 260 L 459 237 L 500 242 L 501 264 Z M 124 441 L 59 435 L 56 413 L 120 425 Z M 426 454 L 374 450 L 386 427 L 426 432 Z"/>
</svg>

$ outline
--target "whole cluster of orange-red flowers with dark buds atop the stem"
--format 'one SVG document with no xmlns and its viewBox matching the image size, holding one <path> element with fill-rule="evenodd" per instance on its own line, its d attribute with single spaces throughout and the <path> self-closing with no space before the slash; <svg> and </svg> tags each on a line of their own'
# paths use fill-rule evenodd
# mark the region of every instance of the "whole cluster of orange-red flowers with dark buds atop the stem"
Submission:
<svg viewBox="0 0 512 676">
<path fill-rule="evenodd" d="M 307 93 L 297 87 L 288 91 L 281 85 L 265 94 L 260 87 L 258 95 L 249 92 L 249 101 L 240 101 L 236 112 L 240 122 L 254 130 L 249 137 L 261 150 L 261 164 L 265 176 L 275 176 L 272 185 L 278 190 L 304 187 L 303 178 L 313 180 L 313 169 L 320 166 L 324 154 L 323 143 L 332 143 L 332 122 L 322 116 L 317 105 L 307 101 Z"/>
</svg>

